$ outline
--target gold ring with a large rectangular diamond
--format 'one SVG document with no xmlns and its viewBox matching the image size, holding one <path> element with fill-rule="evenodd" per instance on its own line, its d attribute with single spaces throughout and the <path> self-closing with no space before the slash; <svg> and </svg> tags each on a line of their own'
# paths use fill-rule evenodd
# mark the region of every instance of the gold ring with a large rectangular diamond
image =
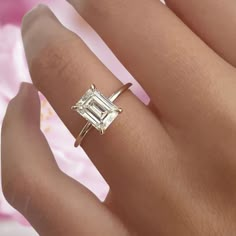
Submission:
<svg viewBox="0 0 236 236">
<path fill-rule="evenodd" d="M 131 86 L 131 83 L 125 84 L 109 98 L 106 98 L 97 90 L 94 84 L 91 85 L 82 98 L 71 107 L 72 110 L 76 111 L 87 120 L 86 125 L 76 138 L 75 147 L 81 145 L 84 137 L 93 127 L 97 129 L 101 135 L 105 133 L 106 129 L 123 111 L 113 102 Z"/>
</svg>

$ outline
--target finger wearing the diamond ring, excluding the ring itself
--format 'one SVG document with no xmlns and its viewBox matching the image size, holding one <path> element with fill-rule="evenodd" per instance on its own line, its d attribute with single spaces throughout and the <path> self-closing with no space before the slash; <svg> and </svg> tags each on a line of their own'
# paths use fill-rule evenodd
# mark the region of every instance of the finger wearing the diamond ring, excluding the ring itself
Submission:
<svg viewBox="0 0 236 236">
<path fill-rule="evenodd" d="M 76 137 L 86 122 L 70 107 L 92 83 L 106 96 L 117 90 L 121 83 L 46 7 L 37 8 L 25 18 L 23 40 L 34 83 Z M 149 165 L 155 158 L 144 163 L 146 150 L 154 146 L 156 154 L 166 156 L 168 148 L 160 147 L 171 144 L 155 115 L 133 94 L 122 94 L 117 104 L 124 112 L 105 135 L 92 130 L 83 147 L 110 187 L 115 188 L 113 191 L 120 193 L 130 191 L 128 182 L 139 181 L 140 171 L 147 172 L 148 176 Z M 123 181 L 126 181 L 127 189 Z"/>
</svg>

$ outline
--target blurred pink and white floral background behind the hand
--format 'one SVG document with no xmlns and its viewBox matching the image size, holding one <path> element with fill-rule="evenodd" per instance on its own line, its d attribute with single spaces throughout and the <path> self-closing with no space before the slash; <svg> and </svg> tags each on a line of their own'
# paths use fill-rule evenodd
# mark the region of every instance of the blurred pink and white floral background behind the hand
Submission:
<svg viewBox="0 0 236 236">
<path fill-rule="evenodd" d="M 0 127 L 8 102 L 15 96 L 22 81 L 30 82 L 24 56 L 20 25 L 23 15 L 33 6 L 47 4 L 60 21 L 77 33 L 100 60 L 123 82 L 133 81 L 133 92 L 145 103 L 148 97 L 119 63 L 99 36 L 65 0 L 0 0 Z M 40 95 L 41 129 L 46 135 L 61 170 L 80 181 L 98 198 L 104 200 L 108 186 L 82 149 L 73 148 L 74 139 L 57 115 Z M 60 139 L 56 138 L 60 137 Z M 1 144 L 1 140 L 0 140 Z M 0 187 L 0 235 L 33 236 L 37 233 L 13 209 Z"/>
</svg>

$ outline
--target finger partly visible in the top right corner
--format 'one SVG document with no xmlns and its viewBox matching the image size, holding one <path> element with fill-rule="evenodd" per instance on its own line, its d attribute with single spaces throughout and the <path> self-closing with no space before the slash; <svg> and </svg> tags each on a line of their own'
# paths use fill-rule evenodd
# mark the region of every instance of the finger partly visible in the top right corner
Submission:
<svg viewBox="0 0 236 236">
<path fill-rule="evenodd" d="M 236 66 L 234 0 L 166 0 L 166 3 L 211 48 Z"/>
</svg>

